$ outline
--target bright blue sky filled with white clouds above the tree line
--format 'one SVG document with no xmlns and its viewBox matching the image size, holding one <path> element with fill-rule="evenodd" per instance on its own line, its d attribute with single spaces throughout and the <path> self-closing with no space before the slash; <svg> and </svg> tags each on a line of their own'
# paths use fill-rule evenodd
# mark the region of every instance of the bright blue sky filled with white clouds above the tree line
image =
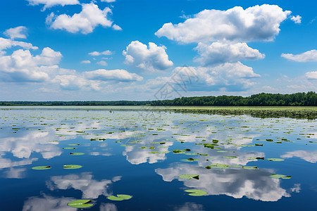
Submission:
<svg viewBox="0 0 317 211">
<path fill-rule="evenodd" d="M 317 91 L 317 1 L 0 1 L 0 101 Z"/>
</svg>

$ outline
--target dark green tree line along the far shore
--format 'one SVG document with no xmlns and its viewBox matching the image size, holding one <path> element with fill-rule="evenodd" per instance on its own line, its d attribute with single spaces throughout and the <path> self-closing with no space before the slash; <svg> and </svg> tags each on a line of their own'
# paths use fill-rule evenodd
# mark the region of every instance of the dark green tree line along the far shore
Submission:
<svg viewBox="0 0 317 211">
<path fill-rule="evenodd" d="M 315 91 L 251 96 L 194 96 L 163 101 L 0 101 L 0 106 L 317 106 Z"/>
</svg>

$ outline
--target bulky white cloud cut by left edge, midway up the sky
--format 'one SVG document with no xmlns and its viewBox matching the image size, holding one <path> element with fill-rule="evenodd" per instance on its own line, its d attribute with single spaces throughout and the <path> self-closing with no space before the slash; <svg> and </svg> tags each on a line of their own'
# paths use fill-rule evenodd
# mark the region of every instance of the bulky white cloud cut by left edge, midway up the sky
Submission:
<svg viewBox="0 0 317 211">
<path fill-rule="evenodd" d="M 33 56 L 29 50 L 19 49 L 10 56 L 0 56 L 0 75 L 4 81 L 44 82 L 49 79 L 51 66 L 61 60 L 61 53 L 44 48 Z"/>
</svg>

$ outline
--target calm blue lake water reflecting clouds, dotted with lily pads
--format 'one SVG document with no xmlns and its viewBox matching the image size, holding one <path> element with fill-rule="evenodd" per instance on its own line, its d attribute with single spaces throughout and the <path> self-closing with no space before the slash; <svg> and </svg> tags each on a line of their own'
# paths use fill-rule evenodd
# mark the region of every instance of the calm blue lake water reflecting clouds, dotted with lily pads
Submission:
<svg viewBox="0 0 317 211">
<path fill-rule="evenodd" d="M 79 199 L 92 200 L 85 210 L 105 211 L 316 210 L 316 122 L 150 110 L 2 109 L 0 210 L 76 210 L 68 203 Z M 68 147 L 75 149 L 63 149 Z M 189 158 L 194 161 L 185 162 Z M 42 165 L 51 169 L 32 170 Z M 188 189 L 206 195 L 189 196 Z M 117 194 L 132 198 L 107 198 Z"/>
</svg>

